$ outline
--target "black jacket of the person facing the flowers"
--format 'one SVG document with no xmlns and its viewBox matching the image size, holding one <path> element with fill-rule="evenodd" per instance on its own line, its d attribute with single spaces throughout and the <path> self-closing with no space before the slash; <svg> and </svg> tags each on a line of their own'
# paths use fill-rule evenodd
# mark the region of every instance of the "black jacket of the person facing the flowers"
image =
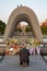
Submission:
<svg viewBox="0 0 47 71">
<path fill-rule="evenodd" d="M 30 61 L 30 51 L 26 48 L 23 48 L 20 50 L 20 60 L 21 61 Z"/>
</svg>

